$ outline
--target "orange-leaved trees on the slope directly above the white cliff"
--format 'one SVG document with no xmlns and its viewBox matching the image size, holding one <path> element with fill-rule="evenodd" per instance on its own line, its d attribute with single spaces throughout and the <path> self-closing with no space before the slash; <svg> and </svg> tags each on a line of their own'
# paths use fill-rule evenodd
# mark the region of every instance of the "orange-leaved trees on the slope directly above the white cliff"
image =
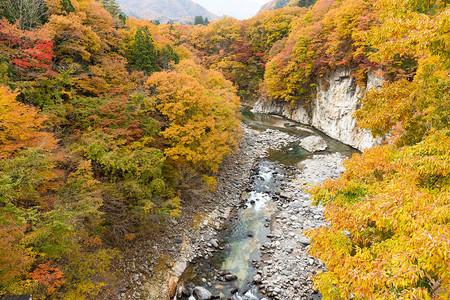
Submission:
<svg viewBox="0 0 450 300">
<path fill-rule="evenodd" d="M 269 96 L 277 100 L 307 102 L 322 79 L 339 68 L 352 70 L 364 85 L 377 64 L 368 59 L 360 36 L 374 24 L 370 1 L 320 0 L 303 9 L 285 46 L 267 63 L 264 76 Z"/>
</svg>

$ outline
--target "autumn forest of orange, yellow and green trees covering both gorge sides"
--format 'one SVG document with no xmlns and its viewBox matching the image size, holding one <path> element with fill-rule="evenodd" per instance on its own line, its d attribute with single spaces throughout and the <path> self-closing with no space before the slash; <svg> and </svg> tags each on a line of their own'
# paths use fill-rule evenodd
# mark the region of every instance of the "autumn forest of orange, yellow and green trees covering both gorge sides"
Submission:
<svg viewBox="0 0 450 300">
<path fill-rule="evenodd" d="M 354 117 L 385 143 L 310 189 L 325 299 L 450 298 L 450 2 L 290 1 L 156 25 L 114 0 L 0 0 L 0 295 L 93 299 L 111 263 L 240 139 L 239 106 L 311 105 L 376 73 Z"/>
</svg>

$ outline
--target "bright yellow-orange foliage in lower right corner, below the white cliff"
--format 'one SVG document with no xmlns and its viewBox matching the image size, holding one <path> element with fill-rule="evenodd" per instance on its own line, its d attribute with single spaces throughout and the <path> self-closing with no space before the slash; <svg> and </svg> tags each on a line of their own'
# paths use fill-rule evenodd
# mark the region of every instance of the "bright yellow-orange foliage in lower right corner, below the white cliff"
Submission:
<svg viewBox="0 0 450 300">
<path fill-rule="evenodd" d="M 449 143 L 435 133 L 411 148 L 368 150 L 313 189 L 331 223 L 308 232 L 327 265 L 315 278 L 326 298 L 448 298 Z"/>
</svg>

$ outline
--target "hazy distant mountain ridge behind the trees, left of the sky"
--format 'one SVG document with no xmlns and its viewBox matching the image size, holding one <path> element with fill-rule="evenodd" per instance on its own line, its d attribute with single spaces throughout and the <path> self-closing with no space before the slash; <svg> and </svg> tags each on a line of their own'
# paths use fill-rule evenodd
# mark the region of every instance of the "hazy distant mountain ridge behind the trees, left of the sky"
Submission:
<svg viewBox="0 0 450 300">
<path fill-rule="evenodd" d="M 180 23 L 193 22 L 195 16 L 218 19 L 215 14 L 191 0 L 117 0 L 117 3 L 124 13 L 140 19 Z"/>
</svg>

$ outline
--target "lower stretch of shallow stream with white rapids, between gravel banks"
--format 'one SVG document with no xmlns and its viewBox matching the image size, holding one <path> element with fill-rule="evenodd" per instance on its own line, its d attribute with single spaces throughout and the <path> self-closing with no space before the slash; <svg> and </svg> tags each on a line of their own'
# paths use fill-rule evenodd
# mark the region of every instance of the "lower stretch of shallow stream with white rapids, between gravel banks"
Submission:
<svg viewBox="0 0 450 300">
<path fill-rule="evenodd" d="M 251 290 L 249 282 L 255 275 L 252 261 L 261 258 L 260 248 L 269 241 L 270 222 L 277 209 L 273 201 L 279 192 L 279 182 L 284 177 L 282 169 L 275 163 L 261 161 L 257 172 L 253 175 L 251 191 L 242 195 L 245 206 L 237 212 L 227 229 L 219 234 L 224 246 L 209 260 L 198 260 L 186 272 L 182 281 L 194 285 L 211 285 L 208 290 L 214 295 L 229 297 L 233 288 L 240 291 Z M 218 280 L 220 274 L 229 272 L 236 275 L 237 280 Z M 257 289 L 253 291 L 258 295 Z"/>
</svg>

